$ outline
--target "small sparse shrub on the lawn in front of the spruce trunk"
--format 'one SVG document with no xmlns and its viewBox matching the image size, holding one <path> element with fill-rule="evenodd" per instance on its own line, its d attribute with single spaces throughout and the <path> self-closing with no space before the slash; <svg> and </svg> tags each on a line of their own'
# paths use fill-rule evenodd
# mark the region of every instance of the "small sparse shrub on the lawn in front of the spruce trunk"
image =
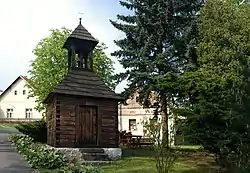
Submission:
<svg viewBox="0 0 250 173">
<path fill-rule="evenodd" d="M 162 138 L 161 130 L 163 124 L 158 120 L 149 120 L 143 122 L 145 135 L 151 139 L 155 151 L 156 170 L 158 173 L 169 173 L 178 158 L 177 150 L 168 147 L 168 141 Z"/>
</svg>

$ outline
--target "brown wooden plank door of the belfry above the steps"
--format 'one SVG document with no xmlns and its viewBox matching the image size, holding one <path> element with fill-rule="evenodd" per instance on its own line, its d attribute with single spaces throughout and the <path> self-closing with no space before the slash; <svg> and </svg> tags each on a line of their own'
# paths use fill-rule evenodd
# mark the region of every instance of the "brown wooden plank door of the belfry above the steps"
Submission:
<svg viewBox="0 0 250 173">
<path fill-rule="evenodd" d="M 97 145 L 97 107 L 79 106 L 78 112 L 78 144 L 80 146 Z"/>
</svg>

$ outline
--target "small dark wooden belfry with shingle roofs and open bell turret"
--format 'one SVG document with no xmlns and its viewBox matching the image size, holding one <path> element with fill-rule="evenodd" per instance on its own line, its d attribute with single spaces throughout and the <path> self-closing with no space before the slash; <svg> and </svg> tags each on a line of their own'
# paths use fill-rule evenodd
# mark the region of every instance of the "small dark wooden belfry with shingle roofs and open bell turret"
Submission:
<svg viewBox="0 0 250 173">
<path fill-rule="evenodd" d="M 80 20 L 63 46 L 68 50 L 68 74 L 44 100 L 48 145 L 118 147 L 121 97 L 94 74 L 92 55 L 97 44 Z"/>
</svg>

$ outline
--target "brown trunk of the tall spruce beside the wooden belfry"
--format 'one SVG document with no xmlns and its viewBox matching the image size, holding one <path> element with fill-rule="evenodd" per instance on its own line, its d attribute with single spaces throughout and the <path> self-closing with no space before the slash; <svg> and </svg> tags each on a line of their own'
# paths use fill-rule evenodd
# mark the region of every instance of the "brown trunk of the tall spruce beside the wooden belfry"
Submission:
<svg viewBox="0 0 250 173">
<path fill-rule="evenodd" d="M 166 147 L 169 147 L 169 130 L 168 130 L 168 111 L 167 111 L 167 100 L 166 95 L 161 96 L 161 110 L 162 110 L 162 140 Z"/>
</svg>

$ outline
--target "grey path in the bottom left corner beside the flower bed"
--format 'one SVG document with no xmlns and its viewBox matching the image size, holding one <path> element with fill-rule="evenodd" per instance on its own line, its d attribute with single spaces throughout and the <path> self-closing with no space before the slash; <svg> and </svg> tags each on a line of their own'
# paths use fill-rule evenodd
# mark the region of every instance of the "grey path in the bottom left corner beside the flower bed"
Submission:
<svg viewBox="0 0 250 173">
<path fill-rule="evenodd" d="M 0 173 L 34 173 L 34 170 L 8 141 L 8 135 L 15 133 L 18 132 L 0 129 Z"/>
</svg>

